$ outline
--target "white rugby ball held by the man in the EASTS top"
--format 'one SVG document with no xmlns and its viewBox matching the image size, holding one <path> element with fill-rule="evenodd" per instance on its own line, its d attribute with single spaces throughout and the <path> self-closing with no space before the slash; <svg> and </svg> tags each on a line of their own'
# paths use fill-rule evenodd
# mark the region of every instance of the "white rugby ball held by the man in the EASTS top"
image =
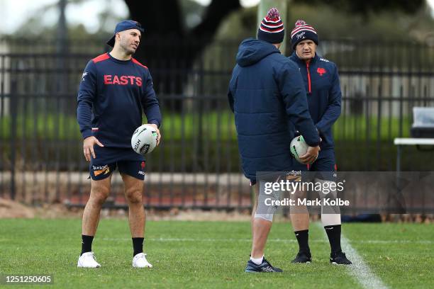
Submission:
<svg viewBox="0 0 434 289">
<path fill-rule="evenodd" d="M 131 147 L 138 154 L 150 154 L 157 146 L 157 130 L 152 125 L 140 125 L 131 137 Z"/>
</svg>

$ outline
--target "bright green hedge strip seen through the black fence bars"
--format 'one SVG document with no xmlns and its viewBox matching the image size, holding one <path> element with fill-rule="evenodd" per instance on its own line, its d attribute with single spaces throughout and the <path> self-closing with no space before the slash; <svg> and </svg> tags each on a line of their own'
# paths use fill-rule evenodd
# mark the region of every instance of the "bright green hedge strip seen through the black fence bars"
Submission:
<svg viewBox="0 0 434 289">
<path fill-rule="evenodd" d="M 236 130 L 233 113 L 230 111 L 199 113 L 165 113 L 164 125 L 161 128 L 165 141 L 181 141 L 184 138 L 192 142 L 198 135 L 211 142 L 216 140 L 235 141 Z M 16 138 L 35 137 L 39 140 L 81 140 L 77 118 L 65 114 L 19 114 L 16 123 Z M 202 123 L 199 131 L 198 123 Z M 2 118 L 2 140 L 11 138 L 11 117 Z M 379 134 L 378 130 L 379 129 Z M 401 137 L 408 137 L 411 122 L 406 116 L 402 121 Z M 371 116 L 369 119 L 363 115 L 342 115 L 333 125 L 333 134 L 336 141 L 340 140 L 392 140 L 399 137 L 399 118 L 381 118 Z"/>
</svg>

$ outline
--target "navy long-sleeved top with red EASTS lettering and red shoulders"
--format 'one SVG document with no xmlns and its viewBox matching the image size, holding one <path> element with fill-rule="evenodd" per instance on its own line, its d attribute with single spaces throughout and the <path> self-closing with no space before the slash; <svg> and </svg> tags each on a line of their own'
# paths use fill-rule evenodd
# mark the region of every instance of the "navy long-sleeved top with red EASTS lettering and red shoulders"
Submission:
<svg viewBox="0 0 434 289">
<path fill-rule="evenodd" d="M 78 92 L 77 120 L 83 138 L 94 135 L 105 147 L 131 147 L 142 125 L 161 124 L 160 106 L 148 67 L 134 58 L 116 60 L 109 53 L 87 63 Z"/>
</svg>

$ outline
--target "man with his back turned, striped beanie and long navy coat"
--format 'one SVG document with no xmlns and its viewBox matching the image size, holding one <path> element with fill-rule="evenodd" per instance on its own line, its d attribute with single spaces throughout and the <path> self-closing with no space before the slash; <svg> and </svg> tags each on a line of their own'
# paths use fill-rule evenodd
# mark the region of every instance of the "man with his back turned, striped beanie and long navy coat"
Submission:
<svg viewBox="0 0 434 289">
<path fill-rule="evenodd" d="M 301 157 L 310 164 L 319 150 L 319 136 L 308 113 L 306 90 L 299 68 L 279 52 L 284 24 L 277 8 L 268 11 L 256 39 L 241 42 L 230 79 L 228 99 L 235 113 L 243 172 L 256 198 L 252 210 L 252 251 L 246 272 L 282 272 L 264 258 L 273 213 L 258 208 L 257 172 L 291 171 L 289 144 L 299 130 L 309 145 Z M 295 127 L 295 128 L 294 128 Z"/>
</svg>

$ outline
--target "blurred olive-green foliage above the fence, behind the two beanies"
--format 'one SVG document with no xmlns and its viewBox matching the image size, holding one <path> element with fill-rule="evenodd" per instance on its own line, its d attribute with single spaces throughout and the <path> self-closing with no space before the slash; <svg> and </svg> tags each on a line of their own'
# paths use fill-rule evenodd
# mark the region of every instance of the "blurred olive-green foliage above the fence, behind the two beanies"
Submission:
<svg viewBox="0 0 434 289">
<path fill-rule="evenodd" d="M 243 39 L 256 37 L 257 7 L 244 8 L 230 14 L 216 34 L 217 39 Z M 304 19 L 318 31 L 321 39 L 370 39 L 425 41 L 432 32 L 434 18 L 430 8 L 422 6 L 416 13 L 387 9 L 369 11 L 367 14 L 347 13 L 327 4 L 307 4 L 306 1 L 291 3 L 288 20 L 285 24 L 286 35 L 291 33 L 294 23 Z"/>
</svg>

